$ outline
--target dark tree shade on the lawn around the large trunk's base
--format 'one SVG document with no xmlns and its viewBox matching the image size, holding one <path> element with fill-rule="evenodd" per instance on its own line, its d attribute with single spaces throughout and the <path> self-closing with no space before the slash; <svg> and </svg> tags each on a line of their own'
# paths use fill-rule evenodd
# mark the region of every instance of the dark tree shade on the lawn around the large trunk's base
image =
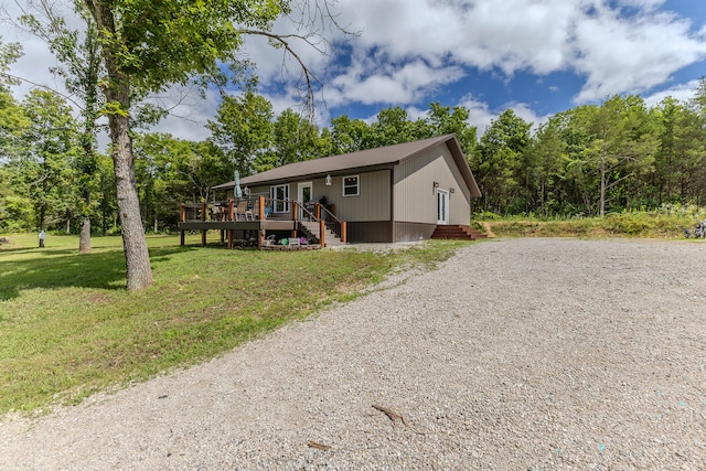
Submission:
<svg viewBox="0 0 706 471">
<path fill-rule="evenodd" d="M 154 267 L 169 260 L 170 255 L 192 249 L 179 246 L 150 248 L 150 263 Z M 78 254 L 75 249 L 42 250 L 35 258 L 2 261 L 0 301 L 34 288 L 125 289 L 125 277 L 122 248 L 92 254 Z"/>
</svg>

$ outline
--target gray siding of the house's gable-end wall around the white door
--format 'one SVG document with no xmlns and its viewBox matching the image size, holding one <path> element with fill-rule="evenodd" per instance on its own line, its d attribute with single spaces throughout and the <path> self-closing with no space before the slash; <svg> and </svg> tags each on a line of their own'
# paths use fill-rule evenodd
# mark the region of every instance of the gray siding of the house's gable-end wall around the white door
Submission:
<svg viewBox="0 0 706 471">
<path fill-rule="evenodd" d="M 402 162 L 395 169 L 395 221 L 436 224 L 437 193 L 450 191 L 449 224 L 469 224 L 470 190 L 447 146 L 437 146 Z"/>
</svg>

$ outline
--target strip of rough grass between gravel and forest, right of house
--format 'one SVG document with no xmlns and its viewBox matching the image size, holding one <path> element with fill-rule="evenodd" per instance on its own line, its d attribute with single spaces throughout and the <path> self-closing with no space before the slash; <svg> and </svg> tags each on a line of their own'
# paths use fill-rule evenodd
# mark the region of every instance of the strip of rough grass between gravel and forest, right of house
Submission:
<svg viewBox="0 0 706 471">
<path fill-rule="evenodd" d="M 693 227 L 703 217 L 703 214 L 654 211 L 568 220 L 489 218 L 475 224 L 498 237 L 684 238 L 684 229 Z"/>
</svg>

